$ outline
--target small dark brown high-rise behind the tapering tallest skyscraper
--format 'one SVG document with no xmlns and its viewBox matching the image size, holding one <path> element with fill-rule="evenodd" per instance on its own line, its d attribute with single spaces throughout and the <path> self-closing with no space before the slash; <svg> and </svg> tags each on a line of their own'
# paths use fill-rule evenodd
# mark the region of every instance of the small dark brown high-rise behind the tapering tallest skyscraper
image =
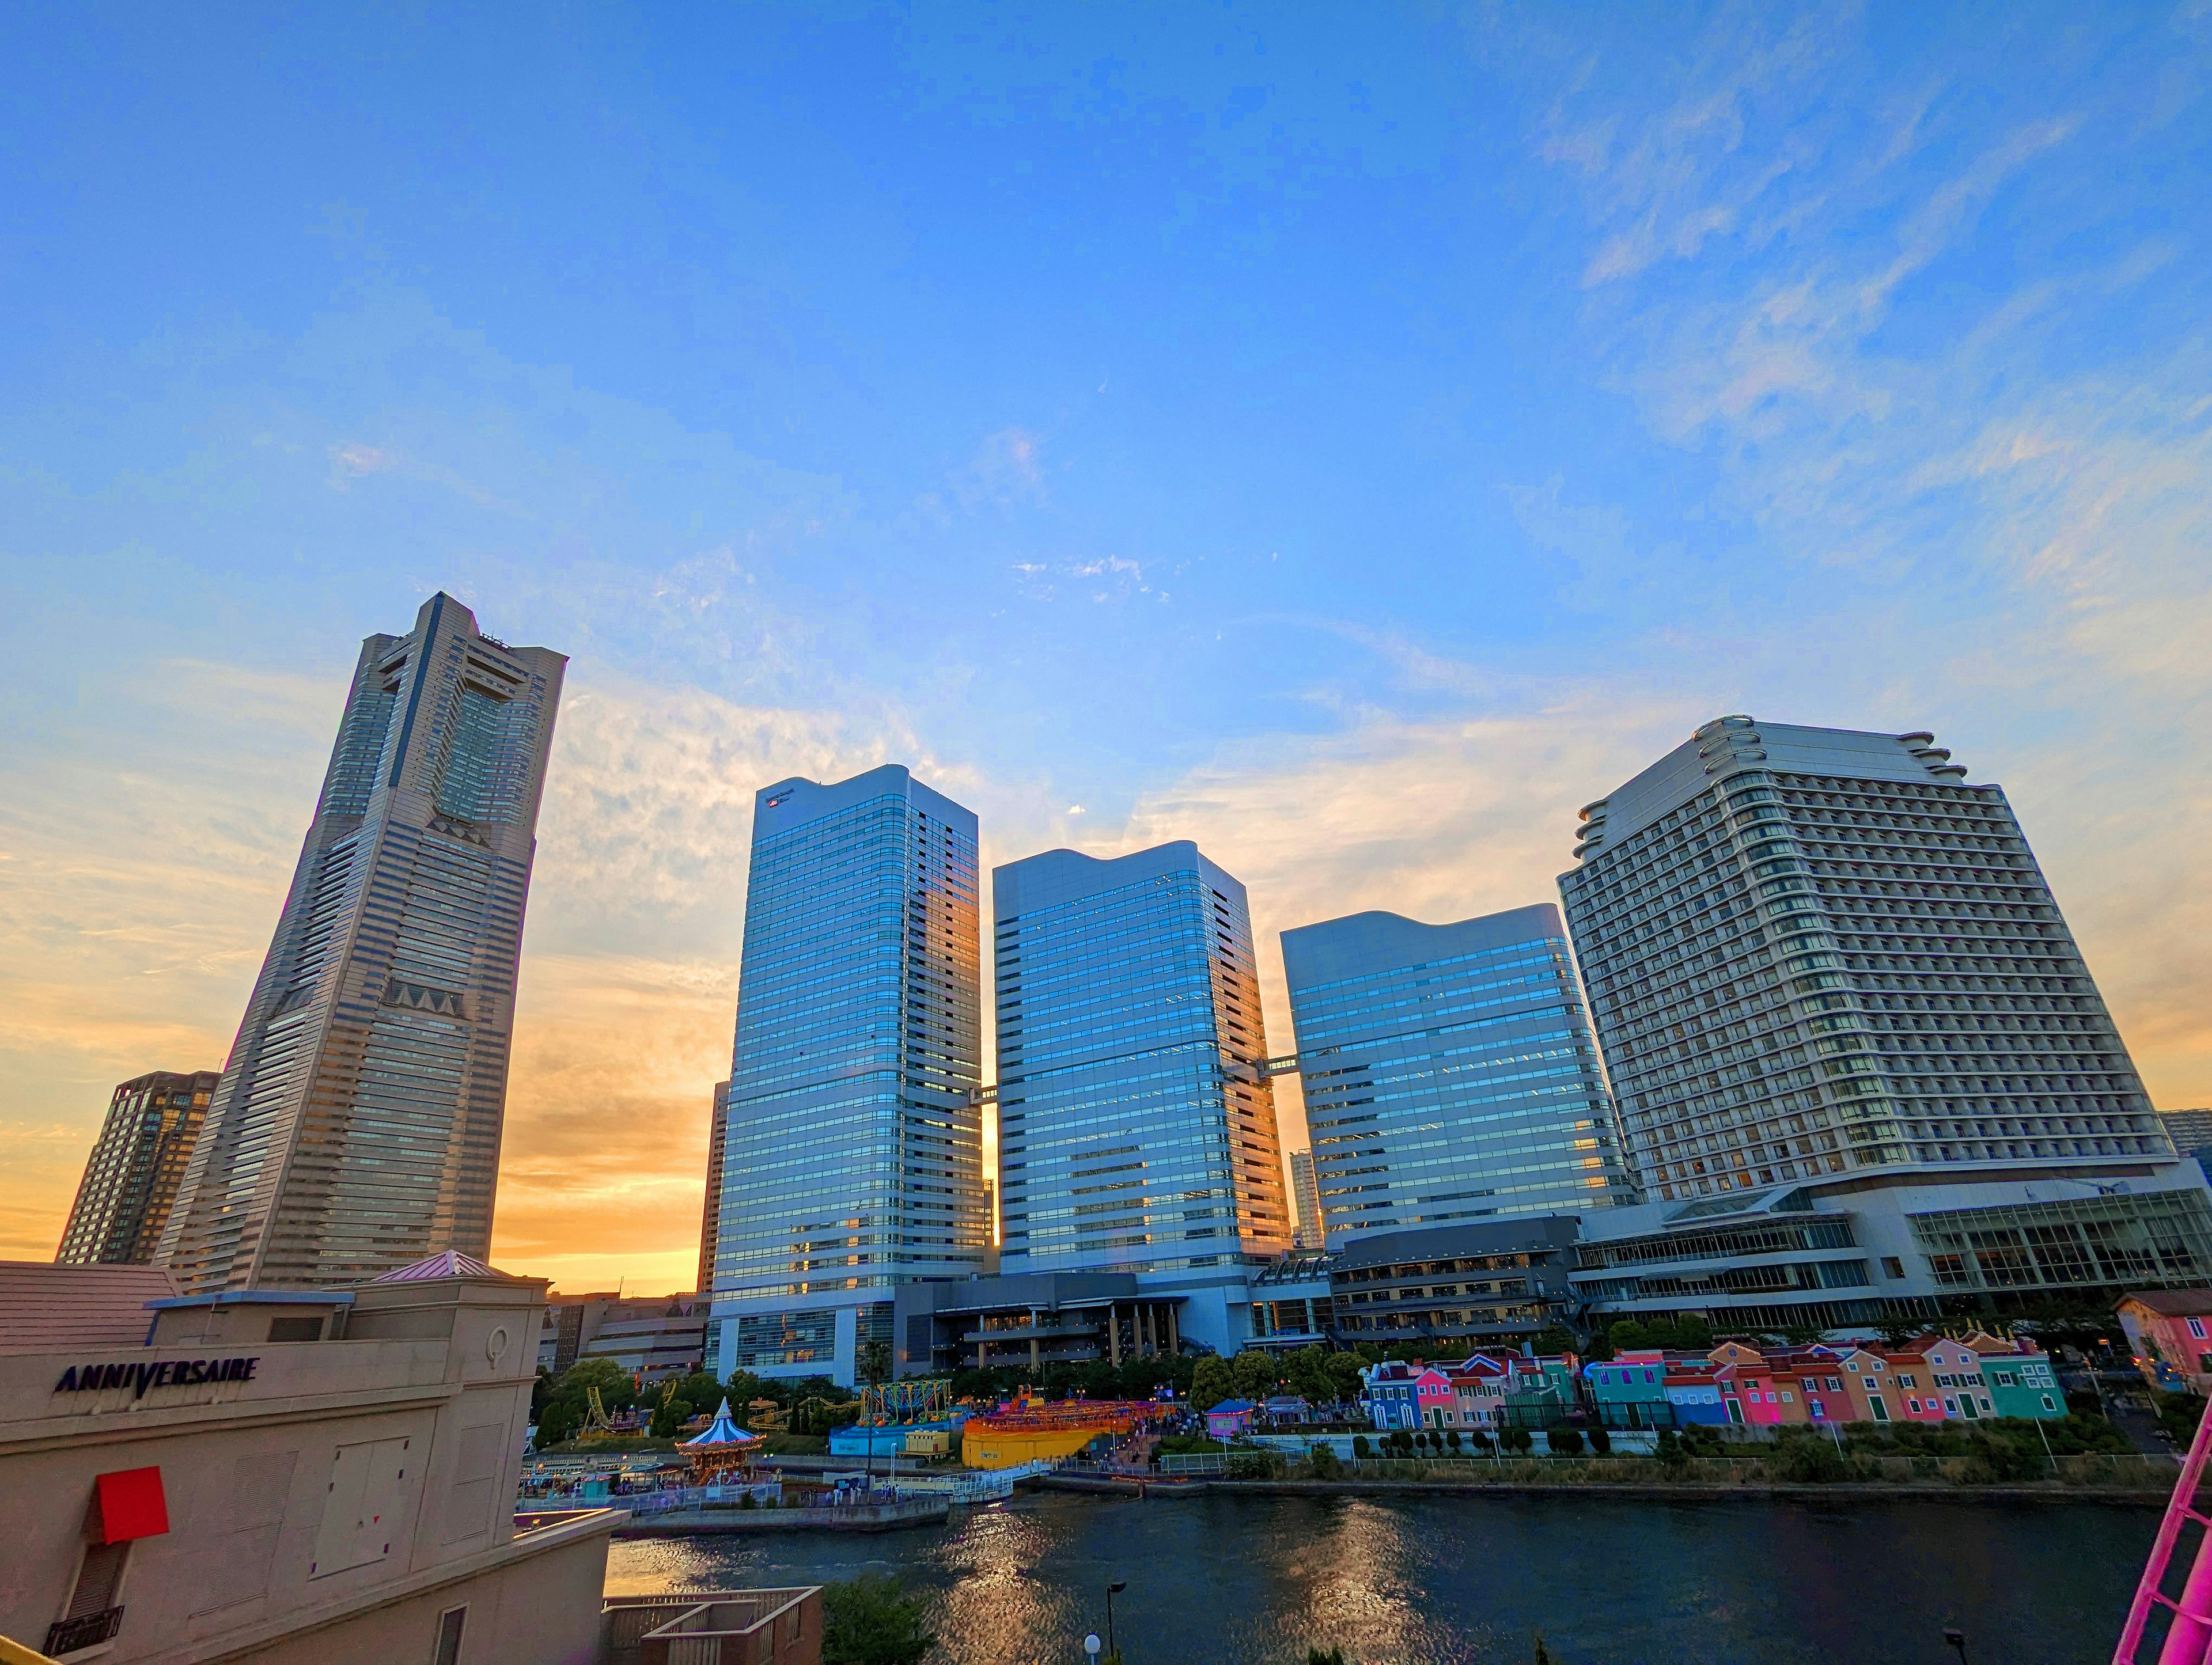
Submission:
<svg viewBox="0 0 2212 1665">
<path fill-rule="evenodd" d="M 146 1265 L 184 1183 L 184 1165 L 223 1077 L 155 1070 L 115 1088 L 84 1161 L 53 1256 L 62 1265 Z"/>
</svg>

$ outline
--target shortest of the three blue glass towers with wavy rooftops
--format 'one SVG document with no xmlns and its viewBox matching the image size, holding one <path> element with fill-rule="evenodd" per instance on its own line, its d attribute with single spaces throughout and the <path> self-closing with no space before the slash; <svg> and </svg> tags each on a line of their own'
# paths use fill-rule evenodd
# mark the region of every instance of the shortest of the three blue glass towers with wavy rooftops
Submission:
<svg viewBox="0 0 2212 1665">
<path fill-rule="evenodd" d="M 1332 1238 L 1635 1201 L 1551 902 L 1283 933 Z"/>
</svg>

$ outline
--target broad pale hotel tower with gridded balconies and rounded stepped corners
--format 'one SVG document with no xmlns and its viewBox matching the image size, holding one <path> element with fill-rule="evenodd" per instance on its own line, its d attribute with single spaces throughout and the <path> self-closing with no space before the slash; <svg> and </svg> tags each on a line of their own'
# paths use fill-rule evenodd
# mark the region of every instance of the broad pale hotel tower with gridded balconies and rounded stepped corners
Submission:
<svg viewBox="0 0 2212 1665">
<path fill-rule="evenodd" d="M 2212 1271 L 2203 1176 L 2004 789 L 1931 734 L 1705 723 L 1582 811 L 1575 856 L 1559 891 L 1652 1207 L 1823 1252 L 1714 1298 L 1865 1318 Z M 1586 1294 L 1703 1287 L 1655 1254 L 1586 1243 Z"/>
</svg>

